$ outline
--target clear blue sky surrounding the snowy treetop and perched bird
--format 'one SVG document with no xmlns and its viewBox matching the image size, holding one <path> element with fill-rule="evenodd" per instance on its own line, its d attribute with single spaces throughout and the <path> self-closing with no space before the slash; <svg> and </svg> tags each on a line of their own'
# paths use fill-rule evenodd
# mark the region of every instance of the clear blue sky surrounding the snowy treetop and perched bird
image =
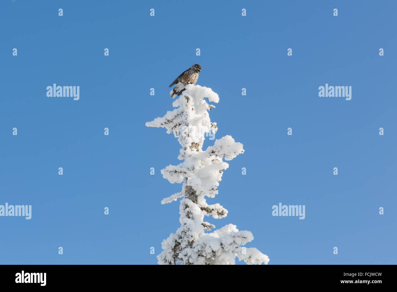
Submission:
<svg viewBox="0 0 397 292">
<path fill-rule="evenodd" d="M 157 263 L 180 226 L 179 201 L 160 204 L 181 189 L 160 174 L 180 162 L 179 144 L 145 122 L 173 109 L 168 85 L 197 63 L 197 84 L 220 96 L 210 112 L 216 139 L 231 135 L 245 149 L 208 199 L 229 215 L 206 219 L 250 230 L 247 247 L 269 264 L 396 264 L 396 9 L 2 1 L 0 205 L 32 205 L 32 219 L 0 217 L 0 263 Z M 53 83 L 80 86 L 80 100 L 47 97 Z M 326 83 L 352 86 L 351 101 L 319 97 Z M 280 202 L 305 205 L 306 218 L 273 217 Z"/>
</svg>

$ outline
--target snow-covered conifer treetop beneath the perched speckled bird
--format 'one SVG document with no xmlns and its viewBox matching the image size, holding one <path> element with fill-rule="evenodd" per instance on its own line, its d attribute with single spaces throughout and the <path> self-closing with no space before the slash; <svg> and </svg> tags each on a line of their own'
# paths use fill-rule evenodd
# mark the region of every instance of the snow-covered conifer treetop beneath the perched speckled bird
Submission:
<svg viewBox="0 0 397 292">
<path fill-rule="evenodd" d="M 204 221 L 204 216 L 215 219 L 226 217 L 227 210 L 220 204 L 208 205 L 205 197 L 213 198 L 218 193 L 222 170 L 229 167 L 223 161 L 231 160 L 244 153 L 243 144 L 235 142 L 227 135 L 217 139 L 214 146 L 202 150 L 204 133 L 217 130 L 211 123 L 208 104 L 219 102 L 218 94 L 208 87 L 187 85 L 186 91 L 172 105 L 162 118 L 146 122 L 147 127 L 162 127 L 167 133 L 178 138 L 182 148 L 178 165 L 169 165 L 161 170 L 170 183 L 182 183 L 182 190 L 161 201 L 162 204 L 181 199 L 179 222 L 181 227 L 176 233 L 163 240 L 163 251 L 157 256 L 159 264 L 176 265 L 234 265 L 235 257 L 247 264 L 267 264 L 269 258 L 256 248 L 241 247 L 254 237 L 249 231 L 239 231 L 235 225 L 228 224 L 213 232 L 213 224 Z M 207 231 L 207 232 L 206 232 Z"/>
</svg>

